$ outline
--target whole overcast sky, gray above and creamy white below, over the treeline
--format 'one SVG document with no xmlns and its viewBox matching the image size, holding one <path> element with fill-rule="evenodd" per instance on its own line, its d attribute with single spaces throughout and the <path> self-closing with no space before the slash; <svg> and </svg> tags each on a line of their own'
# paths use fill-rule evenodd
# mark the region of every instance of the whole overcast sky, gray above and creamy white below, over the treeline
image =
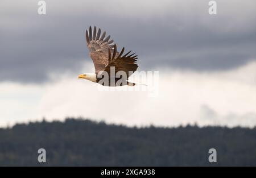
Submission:
<svg viewBox="0 0 256 178">
<path fill-rule="evenodd" d="M 1 0 L 0 106 L 5 111 L 0 124 L 70 114 L 127 125 L 255 125 L 256 1 L 217 1 L 217 15 L 208 14 L 208 2 L 55 0 L 46 1 L 47 14 L 39 15 L 38 1 Z M 89 81 L 76 80 L 81 72 L 94 72 L 85 44 L 85 30 L 94 25 L 111 35 L 119 49 L 136 52 L 140 71 L 159 71 L 158 98 L 134 93 L 139 101 L 115 106 L 130 109 L 125 116 L 109 107 L 102 113 L 92 109 L 104 97 L 95 102 L 65 95 L 81 88 L 83 96 L 102 95 Z M 67 90 L 69 85 L 73 87 Z M 113 105 L 115 97 L 133 98 L 125 92 L 111 96 Z M 155 115 L 148 112 L 152 106 Z M 74 113 L 75 108 L 80 109 Z M 126 121 L 135 115 L 134 122 Z"/>
</svg>

